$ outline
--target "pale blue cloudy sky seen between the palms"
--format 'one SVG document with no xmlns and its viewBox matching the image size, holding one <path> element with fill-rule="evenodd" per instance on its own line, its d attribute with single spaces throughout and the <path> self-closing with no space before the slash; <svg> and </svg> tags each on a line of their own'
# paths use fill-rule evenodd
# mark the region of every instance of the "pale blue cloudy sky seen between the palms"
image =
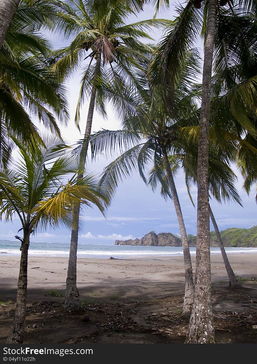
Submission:
<svg viewBox="0 0 257 364">
<path fill-rule="evenodd" d="M 131 23 L 143 19 L 151 19 L 154 11 L 150 7 L 146 7 L 142 13 L 131 16 Z M 159 18 L 173 19 L 175 12 L 173 9 L 162 11 Z M 152 32 L 155 39 L 159 39 L 162 35 L 158 32 Z M 55 47 L 64 47 L 67 42 L 53 38 L 52 42 Z M 201 44 L 199 44 L 201 46 Z M 70 122 L 66 128 L 61 127 L 62 135 L 66 142 L 73 144 L 81 139 L 79 131 L 74 126 L 74 116 L 78 100 L 79 84 L 81 76 L 76 74 L 68 82 L 69 90 L 69 107 Z M 81 131 L 85 129 L 88 103 L 86 102 L 81 110 Z M 102 128 L 109 130 L 117 130 L 120 128 L 119 121 L 115 118 L 111 107 L 108 108 L 108 118 L 103 120 L 96 112 L 94 112 L 92 132 L 101 130 Z M 106 159 L 99 159 L 95 163 L 87 165 L 87 171 L 95 171 L 101 173 L 103 168 L 110 162 Z M 249 228 L 257 225 L 257 205 L 255 202 L 255 191 L 253 190 L 249 197 L 242 190 L 242 177 L 234 168 L 238 176 L 237 189 L 244 205 L 240 207 L 236 203 L 220 205 L 216 201 L 211 200 L 210 204 L 215 215 L 220 230 L 229 227 Z M 196 234 L 196 208 L 193 207 L 189 200 L 187 189 L 185 187 L 184 175 L 181 171 L 175 180 L 177 187 L 181 210 L 183 213 L 185 226 L 188 234 Z M 197 189 L 192 189 L 192 197 L 197 203 Z M 83 244 L 114 244 L 115 240 L 127 240 L 132 238 L 141 238 L 144 234 L 154 230 L 156 233 L 171 232 L 180 235 L 179 226 L 176 218 L 173 202 L 171 200 L 164 201 L 160 195 L 160 190 L 152 192 L 147 187 L 138 173 L 134 173 L 132 178 L 123 182 L 113 199 L 111 207 L 107 211 L 106 218 L 95 209 L 83 209 L 81 211 L 81 219 L 83 226 L 79 232 L 79 242 Z M 212 224 L 211 230 L 213 229 Z M 0 222 L 0 239 L 14 240 L 21 227 L 18 218 L 13 222 Z M 31 241 L 38 242 L 69 242 L 70 231 L 68 229 L 46 230 L 44 233 L 37 234 L 31 238 Z"/>
</svg>

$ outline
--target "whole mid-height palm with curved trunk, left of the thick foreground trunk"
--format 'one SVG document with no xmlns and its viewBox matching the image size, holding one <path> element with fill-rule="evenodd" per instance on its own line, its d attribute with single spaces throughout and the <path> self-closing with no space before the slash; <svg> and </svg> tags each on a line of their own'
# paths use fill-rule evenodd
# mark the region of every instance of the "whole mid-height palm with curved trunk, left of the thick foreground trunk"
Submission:
<svg viewBox="0 0 257 364">
<path fill-rule="evenodd" d="M 163 104 L 163 88 L 145 88 L 144 99 L 133 100 L 132 90 L 127 92 L 126 100 L 130 100 L 131 105 L 135 105 L 135 114 L 131 115 L 123 122 L 123 130 L 109 131 L 103 130 L 90 137 L 92 157 L 98 153 L 110 153 L 120 149 L 126 151 L 106 167 L 101 183 L 114 191 L 117 183 L 127 178 L 136 167 L 140 176 L 147 183 L 144 169 L 150 161 L 154 161 L 156 175 L 159 181 L 166 185 L 166 195 L 172 196 L 175 211 L 178 217 L 181 241 L 183 245 L 184 265 L 185 265 L 185 295 L 183 303 L 183 315 L 191 312 L 194 284 L 192 274 L 191 257 L 185 230 L 183 215 L 176 191 L 176 186 L 168 162 L 168 154 L 172 149 L 182 153 L 186 148 L 186 139 L 180 138 L 180 129 L 187 125 L 188 110 L 192 114 L 197 110 L 194 98 L 195 93 L 190 92 L 193 75 L 197 72 L 197 54 L 195 51 L 189 52 L 184 60 L 183 72 L 177 79 L 176 89 L 173 93 L 173 114 L 167 114 Z M 143 140 L 142 140 L 143 139 Z M 158 168 L 160 161 L 163 161 L 167 178 L 163 178 L 163 171 Z M 169 188 L 168 188 L 169 186 Z"/>
</svg>

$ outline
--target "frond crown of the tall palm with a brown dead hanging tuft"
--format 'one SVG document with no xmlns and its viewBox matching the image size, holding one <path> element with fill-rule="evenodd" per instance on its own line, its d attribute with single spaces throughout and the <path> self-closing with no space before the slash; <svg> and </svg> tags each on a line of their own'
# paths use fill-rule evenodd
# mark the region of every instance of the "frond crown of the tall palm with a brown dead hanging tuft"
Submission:
<svg viewBox="0 0 257 364">
<path fill-rule="evenodd" d="M 66 76 L 82 67 L 81 90 L 75 118 L 77 126 L 80 109 L 91 94 L 93 84 L 97 87 L 95 106 L 103 116 L 106 115 L 106 104 L 109 102 L 114 108 L 121 109 L 121 104 L 125 103 L 122 92 L 126 87 L 132 87 L 134 92 L 143 92 L 143 85 L 136 74 L 138 70 L 144 69 L 143 64 L 149 62 L 153 48 L 144 44 L 140 38 L 151 39 L 147 33 L 149 29 L 162 28 L 168 21 L 148 19 L 126 24 L 133 7 L 137 8 L 139 3 L 137 0 L 106 1 L 105 4 L 96 0 L 83 0 L 79 3 L 68 1 L 70 17 L 76 18 L 76 25 L 80 24 L 81 27 L 70 46 L 53 54 L 51 62 L 56 60 L 54 70 Z M 69 13 L 68 8 L 67 12 Z M 102 61 L 95 80 L 94 59 L 97 54 L 101 54 Z M 85 64 L 86 59 L 88 62 Z M 113 86 L 114 83 L 116 86 Z M 115 87 L 120 91 L 114 95 Z"/>
</svg>

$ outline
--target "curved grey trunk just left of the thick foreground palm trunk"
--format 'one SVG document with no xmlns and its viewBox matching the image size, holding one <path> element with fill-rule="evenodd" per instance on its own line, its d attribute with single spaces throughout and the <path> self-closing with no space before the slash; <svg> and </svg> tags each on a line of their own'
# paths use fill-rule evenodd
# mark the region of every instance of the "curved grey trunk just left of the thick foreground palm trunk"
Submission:
<svg viewBox="0 0 257 364">
<path fill-rule="evenodd" d="M 167 150 L 166 147 L 163 148 L 163 159 L 165 163 L 165 168 L 167 172 L 168 182 L 170 185 L 173 202 L 176 210 L 176 214 L 178 217 L 179 223 L 179 231 L 181 235 L 181 242 L 183 246 L 183 255 L 184 255 L 184 265 L 185 265 L 185 295 L 184 295 L 184 303 L 182 309 L 183 316 L 189 316 L 192 310 L 193 305 L 193 297 L 194 297 L 194 285 L 193 285 L 193 271 L 192 271 L 192 263 L 191 256 L 189 251 L 187 232 L 185 230 L 184 219 L 179 203 L 179 197 L 177 194 L 174 178 L 172 176 L 170 163 L 168 161 Z"/>
</svg>

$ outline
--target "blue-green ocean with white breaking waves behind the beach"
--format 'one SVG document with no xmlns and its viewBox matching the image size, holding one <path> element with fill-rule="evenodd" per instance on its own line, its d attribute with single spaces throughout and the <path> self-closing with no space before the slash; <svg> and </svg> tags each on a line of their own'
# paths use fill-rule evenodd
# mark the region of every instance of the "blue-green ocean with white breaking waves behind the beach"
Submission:
<svg viewBox="0 0 257 364">
<path fill-rule="evenodd" d="M 68 257 L 70 243 L 30 242 L 29 256 Z M 227 254 L 257 253 L 257 248 L 225 248 Z M 195 255 L 196 248 L 190 248 Z M 2 256 L 19 256 L 20 242 L 0 240 Z M 126 246 L 105 244 L 78 244 L 79 258 L 147 258 L 150 256 L 181 256 L 182 247 L 178 246 Z M 211 254 L 221 254 L 219 248 L 211 248 Z M 0 255 L 0 256 L 1 256 Z"/>
</svg>

